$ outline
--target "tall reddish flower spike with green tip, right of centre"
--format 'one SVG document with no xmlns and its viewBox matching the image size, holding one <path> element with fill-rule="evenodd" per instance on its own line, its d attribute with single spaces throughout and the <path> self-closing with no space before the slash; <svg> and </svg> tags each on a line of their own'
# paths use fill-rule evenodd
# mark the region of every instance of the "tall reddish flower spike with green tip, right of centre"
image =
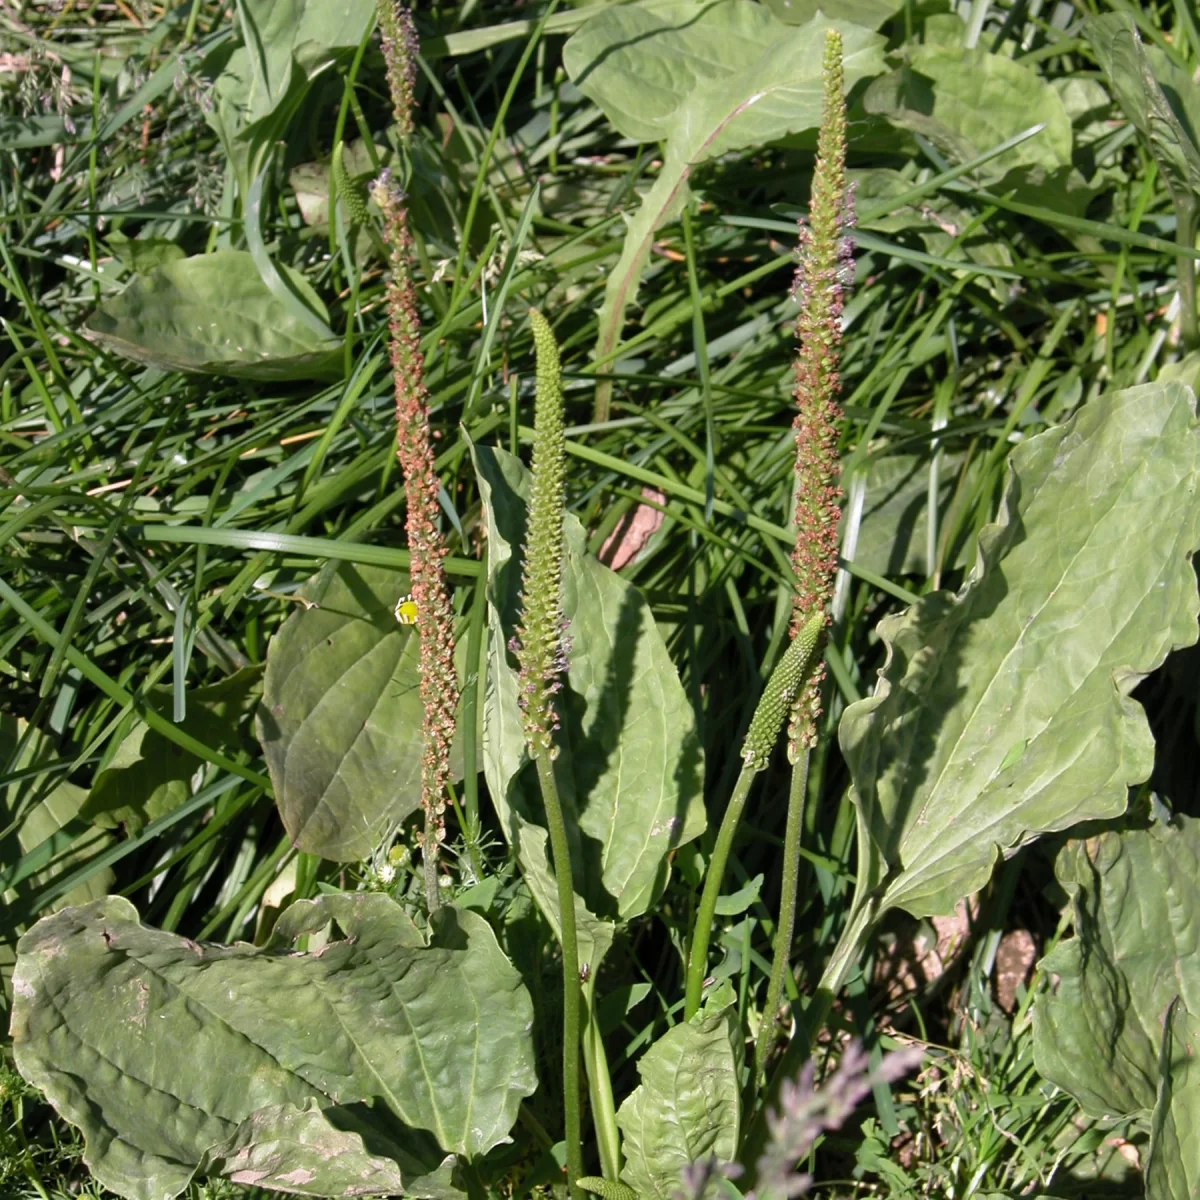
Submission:
<svg viewBox="0 0 1200 1200">
<path fill-rule="evenodd" d="M 824 106 L 817 138 L 816 169 L 808 223 L 800 224 L 796 324 L 796 598 L 792 634 L 817 613 L 829 620 L 838 574 L 838 396 L 841 389 L 841 311 L 853 276 L 853 198 L 846 187 L 846 98 L 841 35 L 826 32 Z M 788 757 L 796 762 L 816 742 L 824 665 L 818 662 L 797 697 L 787 728 Z"/>
</svg>

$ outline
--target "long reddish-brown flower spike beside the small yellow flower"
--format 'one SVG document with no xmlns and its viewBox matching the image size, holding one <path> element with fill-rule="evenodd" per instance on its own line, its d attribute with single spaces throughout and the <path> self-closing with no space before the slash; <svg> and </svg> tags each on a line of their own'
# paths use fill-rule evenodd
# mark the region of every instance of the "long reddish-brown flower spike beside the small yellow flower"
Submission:
<svg viewBox="0 0 1200 1200">
<path fill-rule="evenodd" d="M 385 170 L 372 188 L 383 212 L 384 234 L 391 251 L 388 283 L 388 317 L 391 332 L 391 370 L 396 391 L 396 452 L 404 475 L 408 502 L 408 551 L 416 632 L 420 637 L 421 708 L 424 709 L 424 757 L 421 804 L 425 808 L 422 851 L 427 875 L 436 880 L 432 864 L 445 827 L 445 788 L 450 778 L 450 742 L 458 706 L 458 678 L 454 665 L 454 611 L 442 559 L 438 511 L 438 474 L 430 438 L 428 392 L 421 355 L 421 324 L 416 289 L 410 271 L 412 234 L 404 196 Z"/>
</svg>

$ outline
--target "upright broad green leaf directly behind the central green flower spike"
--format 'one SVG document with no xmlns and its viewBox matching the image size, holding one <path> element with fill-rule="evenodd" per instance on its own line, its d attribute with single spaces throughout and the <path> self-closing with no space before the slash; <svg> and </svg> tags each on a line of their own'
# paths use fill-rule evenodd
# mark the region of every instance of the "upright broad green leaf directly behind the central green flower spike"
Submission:
<svg viewBox="0 0 1200 1200">
<path fill-rule="evenodd" d="M 518 619 L 528 475 L 502 450 L 475 446 L 474 460 L 488 542 L 484 769 L 502 827 L 520 848 L 523 822 L 541 812 L 508 650 Z M 588 904 L 628 919 L 662 894 L 671 851 L 704 828 L 702 750 L 649 605 L 586 552 L 584 530 L 570 514 L 564 541 L 571 654 L 556 770 Z"/>
</svg>

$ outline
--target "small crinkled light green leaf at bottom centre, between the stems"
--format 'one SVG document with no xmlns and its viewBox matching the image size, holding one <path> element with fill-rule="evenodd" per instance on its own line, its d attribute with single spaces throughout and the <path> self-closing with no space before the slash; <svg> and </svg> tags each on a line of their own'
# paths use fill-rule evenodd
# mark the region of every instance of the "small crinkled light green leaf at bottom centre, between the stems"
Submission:
<svg viewBox="0 0 1200 1200">
<path fill-rule="evenodd" d="M 637 1063 L 641 1084 L 617 1112 L 625 1153 L 620 1177 L 640 1196 L 672 1200 L 683 1168 L 737 1154 L 743 1034 L 736 1004 L 714 1007 L 646 1051 Z"/>
</svg>

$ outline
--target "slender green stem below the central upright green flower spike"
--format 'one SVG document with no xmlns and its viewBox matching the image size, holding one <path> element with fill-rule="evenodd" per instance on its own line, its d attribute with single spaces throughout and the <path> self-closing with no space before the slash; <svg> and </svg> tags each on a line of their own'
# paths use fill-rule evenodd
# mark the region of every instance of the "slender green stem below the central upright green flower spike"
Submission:
<svg viewBox="0 0 1200 1200">
<path fill-rule="evenodd" d="M 563 1126 L 566 1139 L 566 1187 L 571 1200 L 583 1200 L 576 1180 L 583 1175 L 583 1140 L 580 1121 L 580 948 L 575 940 L 575 881 L 571 877 L 571 852 L 566 841 L 566 823 L 558 799 L 554 764 L 550 752 L 541 750 L 534 758 L 541 802 L 550 828 L 550 851 L 554 856 L 554 882 L 558 884 L 559 941 L 563 946 Z"/>
</svg>

